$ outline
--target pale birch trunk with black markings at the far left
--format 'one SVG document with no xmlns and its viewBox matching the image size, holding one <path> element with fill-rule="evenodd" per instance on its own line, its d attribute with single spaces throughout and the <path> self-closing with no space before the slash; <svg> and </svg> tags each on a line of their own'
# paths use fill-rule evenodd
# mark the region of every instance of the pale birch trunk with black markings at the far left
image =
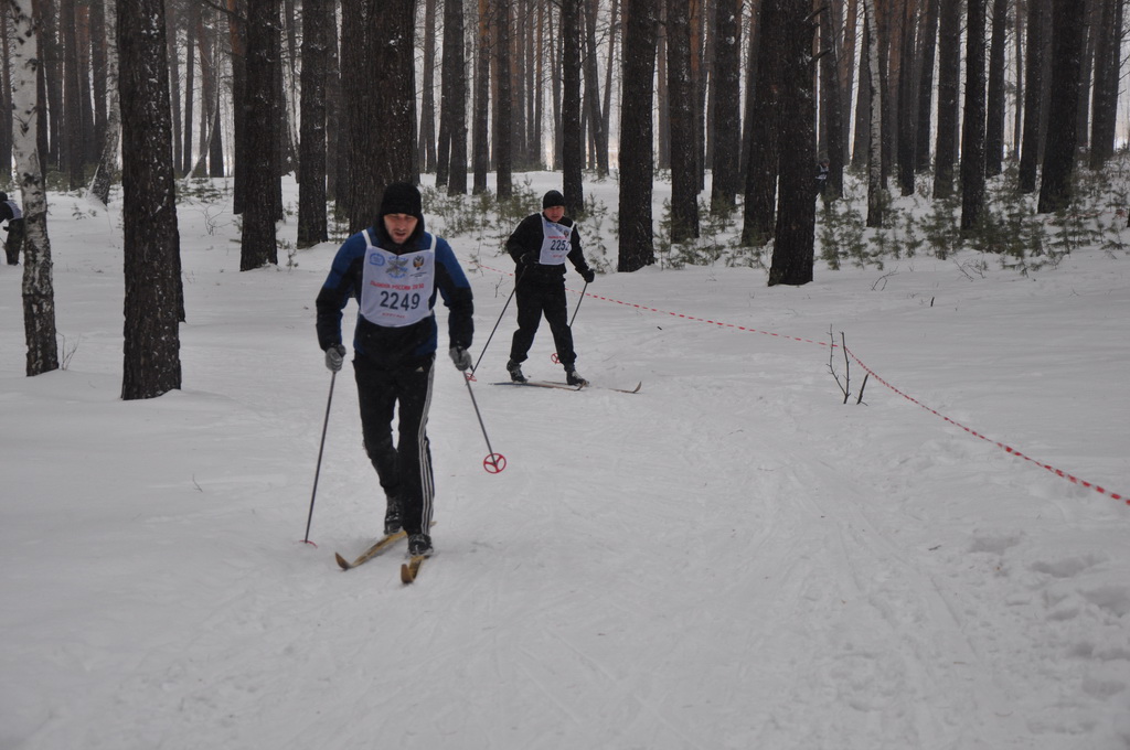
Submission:
<svg viewBox="0 0 1130 750">
<path fill-rule="evenodd" d="M 12 19 L 12 152 L 24 204 L 24 340 L 26 373 L 41 375 L 59 369 L 55 341 L 55 291 L 51 278 L 51 242 L 47 238 L 47 193 L 38 151 L 38 97 L 36 78 L 42 59 L 32 0 L 9 0 Z"/>
</svg>

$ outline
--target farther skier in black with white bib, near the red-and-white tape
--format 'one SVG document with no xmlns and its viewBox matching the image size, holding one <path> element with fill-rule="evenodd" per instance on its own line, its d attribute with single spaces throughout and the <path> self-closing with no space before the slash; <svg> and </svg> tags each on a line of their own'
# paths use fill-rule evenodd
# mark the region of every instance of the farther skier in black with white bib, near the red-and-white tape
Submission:
<svg viewBox="0 0 1130 750">
<path fill-rule="evenodd" d="M 506 252 L 518 263 L 518 330 L 510 346 L 506 369 L 515 383 L 524 383 L 522 363 L 533 345 L 541 315 L 545 314 L 557 347 L 557 360 L 565 367 L 570 385 L 588 385 L 576 372 L 573 331 L 568 325 L 565 300 L 565 259 L 585 284 L 597 274 L 589 268 L 581 248 L 581 234 L 573 219 L 565 216 L 565 197 L 550 190 L 541 199 L 541 213 L 522 219 L 506 241 Z"/>
</svg>

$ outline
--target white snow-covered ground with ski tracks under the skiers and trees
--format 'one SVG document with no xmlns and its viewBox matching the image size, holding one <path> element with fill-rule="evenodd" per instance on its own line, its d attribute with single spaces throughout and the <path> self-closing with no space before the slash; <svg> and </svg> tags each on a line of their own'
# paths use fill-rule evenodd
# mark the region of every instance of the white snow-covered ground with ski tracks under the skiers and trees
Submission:
<svg viewBox="0 0 1130 750">
<path fill-rule="evenodd" d="M 119 398 L 120 203 L 51 195 L 66 369 L 24 376 L 0 265 L 0 748 L 1130 748 L 1124 253 L 603 273 L 577 366 L 635 395 L 490 385 L 511 306 L 472 384 L 507 466 L 442 356 L 437 555 L 405 587 L 402 547 L 333 561 L 383 513 L 348 367 L 302 541 L 336 244 L 240 273 L 228 206 L 180 209 L 159 399 Z M 478 357 L 511 264 L 452 245 Z M 551 352 L 542 326 L 527 373 Z"/>
</svg>

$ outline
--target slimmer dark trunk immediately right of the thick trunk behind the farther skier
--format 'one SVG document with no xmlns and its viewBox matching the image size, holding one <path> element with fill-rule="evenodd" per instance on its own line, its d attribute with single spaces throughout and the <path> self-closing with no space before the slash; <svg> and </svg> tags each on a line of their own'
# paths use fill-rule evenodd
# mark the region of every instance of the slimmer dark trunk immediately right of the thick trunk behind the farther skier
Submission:
<svg viewBox="0 0 1130 750">
<path fill-rule="evenodd" d="M 667 90 L 671 123 L 671 243 L 698 236 L 690 19 L 686 0 L 667 0 Z"/>
</svg>

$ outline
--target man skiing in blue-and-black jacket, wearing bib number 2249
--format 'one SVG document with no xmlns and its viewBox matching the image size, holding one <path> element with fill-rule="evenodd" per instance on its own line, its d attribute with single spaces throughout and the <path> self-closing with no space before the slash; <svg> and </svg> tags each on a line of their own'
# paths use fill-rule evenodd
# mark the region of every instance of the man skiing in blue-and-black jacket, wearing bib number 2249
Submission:
<svg viewBox="0 0 1130 750">
<path fill-rule="evenodd" d="M 318 295 L 318 342 L 325 366 L 341 369 L 341 311 L 359 307 L 354 331 L 354 375 L 365 452 L 386 504 L 384 532 L 408 534 L 410 555 L 431 555 L 434 482 L 427 438 L 432 373 L 437 346 L 436 293 L 449 308 L 452 361 L 471 366 L 475 330 L 471 287 L 451 245 L 424 230 L 419 191 L 408 183 L 385 188 L 376 226 L 341 245 Z M 392 442 L 393 409 L 398 441 Z"/>
</svg>

